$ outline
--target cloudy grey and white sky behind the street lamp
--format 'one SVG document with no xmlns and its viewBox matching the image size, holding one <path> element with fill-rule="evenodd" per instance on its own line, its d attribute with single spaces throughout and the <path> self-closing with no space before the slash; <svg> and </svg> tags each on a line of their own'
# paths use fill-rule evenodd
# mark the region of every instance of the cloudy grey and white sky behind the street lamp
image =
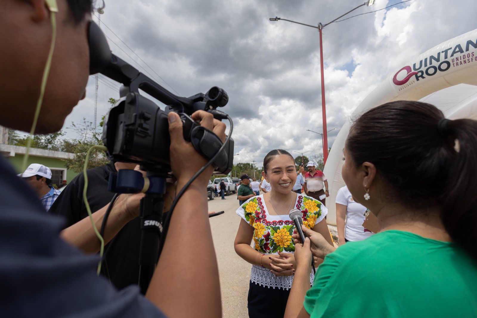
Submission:
<svg viewBox="0 0 477 318">
<path fill-rule="evenodd" d="M 101 2 L 101 1 L 98 1 Z M 363 0 L 106 0 L 101 26 L 116 55 L 173 93 L 224 88 L 234 120 L 235 162 L 284 148 L 322 153 L 318 30 Z M 476 28 L 475 0 L 376 0 L 323 29 L 329 145 L 373 88 L 413 57 Z M 100 4 L 100 3 L 99 3 Z M 343 19 L 344 19 L 343 18 Z M 97 17 L 93 17 L 97 21 Z M 141 60 L 142 59 L 142 60 Z M 147 65 L 148 66 L 147 66 Z M 160 76 L 160 77 L 159 77 Z M 99 76 L 98 123 L 119 85 Z M 95 79 L 65 127 L 93 121 Z M 164 105 L 160 105 L 164 108 Z M 295 151 L 295 152 L 294 152 Z"/>
</svg>

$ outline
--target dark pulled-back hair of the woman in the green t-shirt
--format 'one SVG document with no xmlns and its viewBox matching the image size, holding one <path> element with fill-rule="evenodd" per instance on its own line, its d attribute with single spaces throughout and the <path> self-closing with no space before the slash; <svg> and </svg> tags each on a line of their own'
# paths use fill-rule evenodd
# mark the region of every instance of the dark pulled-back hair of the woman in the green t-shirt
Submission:
<svg viewBox="0 0 477 318">
<path fill-rule="evenodd" d="M 443 118 L 430 104 L 387 103 L 355 121 L 345 147 L 356 166 L 375 165 L 386 200 L 438 207 L 452 240 L 477 260 L 477 121 Z"/>
</svg>

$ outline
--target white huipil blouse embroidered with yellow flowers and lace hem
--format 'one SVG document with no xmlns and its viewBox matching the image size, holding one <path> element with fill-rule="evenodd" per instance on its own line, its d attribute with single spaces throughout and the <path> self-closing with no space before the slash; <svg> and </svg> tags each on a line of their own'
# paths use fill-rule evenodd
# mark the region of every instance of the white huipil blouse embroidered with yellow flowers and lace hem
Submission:
<svg viewBox="0 0 477 318">
<path fill-rule="evenodd" d="M 328 209 L 320 201 L 304 195 L 297 195 L 294 207 L 301 211 L 303 225 L 309 229 L 323 220 L 328 213 Z M 293 221 L 288 214 L 270 215 L 263 195 L 245 201 L 236 212 L 254 228 L 253 242 L 256 251 L 263 254 L 295 252 L 295 243 L 291 237 L 295 229 Z M 275 276 L 266 267 L 252 265 L 250 280 L 261 286 L 290 289 L 293 276 Z M 310 275 L 310 284 L 313 284 L 313 273 Z"/>
</svg>

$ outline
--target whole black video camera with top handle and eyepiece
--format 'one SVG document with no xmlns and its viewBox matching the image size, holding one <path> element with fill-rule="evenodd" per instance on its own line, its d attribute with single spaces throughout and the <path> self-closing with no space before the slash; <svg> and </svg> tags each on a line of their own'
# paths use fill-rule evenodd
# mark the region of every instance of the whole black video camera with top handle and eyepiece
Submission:
<svg viewBox="0 0 477 318">
<path fill-rule="evenodd" d="M 167 113 L 171 111 L 181 117 L 184 139 L 190 141 L 197 152 L 208 160 L 216 155 L 223 145 L 222 141 L 190 115 L 197 110 L 205 110 L 216 119 L 229 119 L 227 114 L 217 110 L 217 107 L 228 103 L 228 95 L 223 89 L 214 86 L 206 94 L 199 93 L 188 98 L 176 96 L 115 56 L 104 33 L 93 21 L 90 22 L 88 40 L 90 74 L 102 73 L 123 84 L 119 92 L 121 98 L 104 118 L 103 142 L 108 148 L 108 159 L 137 162 L 154 170 L 170 171 Z M 165 110 L 140 95 L 139 89 L 164 103 Z M 217 172 L 228 174 L 232 170 L 233 151 L 234 141 L 229 138 L 213 162 Z"/>
</svg>

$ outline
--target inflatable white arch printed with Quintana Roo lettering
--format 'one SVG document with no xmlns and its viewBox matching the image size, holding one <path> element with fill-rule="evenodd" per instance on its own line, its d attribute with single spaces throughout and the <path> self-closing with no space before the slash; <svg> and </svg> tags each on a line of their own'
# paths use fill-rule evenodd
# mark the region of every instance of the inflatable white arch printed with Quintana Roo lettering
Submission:
<svg viewBox="0 0 477 318">
<path fill-rule="evenodd" d="M 440 43 L 396 71 L 364 98 L 352 118 L 395 100 L 420 100 L 437 106 L 447 118 L 477 119 L 477 29 Z M 336 225 L 334 202 L 344 186 L 342 149 L 351 124 L 341 128 L 323 171 L 330 188 L 328 224 Z"/>
</svg>

